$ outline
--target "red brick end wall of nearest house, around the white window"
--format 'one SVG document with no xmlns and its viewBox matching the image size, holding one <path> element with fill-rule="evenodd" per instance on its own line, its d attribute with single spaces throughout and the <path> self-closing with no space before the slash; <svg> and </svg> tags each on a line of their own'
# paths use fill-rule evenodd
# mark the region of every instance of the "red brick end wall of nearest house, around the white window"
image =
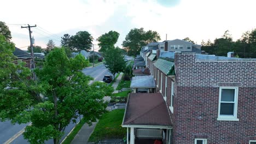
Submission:
<svg viewBox="0 0 256 144">
<path fill-rule="evenodd" d="M 199 62 L 193 53 L 176 53 L 173 139 L 194 143 L 249 143 L 256 139 L 256 62 Z M 239 121 L 217 121 L 219 82 L 237 82 Z"/>
</svg>

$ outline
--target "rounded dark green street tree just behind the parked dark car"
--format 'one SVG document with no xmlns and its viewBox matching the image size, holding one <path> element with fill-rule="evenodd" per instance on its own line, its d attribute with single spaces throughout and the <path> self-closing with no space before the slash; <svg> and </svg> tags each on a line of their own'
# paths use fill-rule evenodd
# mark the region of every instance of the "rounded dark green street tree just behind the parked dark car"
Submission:
<svg viewBox="0 0 256 144">
<path fill-rule="evenodd" d="M 126 62 L 124 61 L 124 55 L 122 55 L 122 51 L 118 47 L 108 49 L 105 52 L 104 59 L 105 67 L 114 77 L 115 73 L 119 73 L 125 69 Z"/>
</svg>

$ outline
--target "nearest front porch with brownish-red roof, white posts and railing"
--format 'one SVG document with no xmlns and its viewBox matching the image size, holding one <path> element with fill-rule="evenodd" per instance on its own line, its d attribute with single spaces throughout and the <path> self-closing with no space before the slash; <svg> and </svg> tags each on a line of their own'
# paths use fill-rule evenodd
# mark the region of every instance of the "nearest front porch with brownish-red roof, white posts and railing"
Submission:
<svg viewBox="0 0 256 144">
<path fill-rule="evenodd" d="M 171 143 L 172 122 L 160 93 L 131 93 L 122 127 L 127 143 Z"/>
</svg>

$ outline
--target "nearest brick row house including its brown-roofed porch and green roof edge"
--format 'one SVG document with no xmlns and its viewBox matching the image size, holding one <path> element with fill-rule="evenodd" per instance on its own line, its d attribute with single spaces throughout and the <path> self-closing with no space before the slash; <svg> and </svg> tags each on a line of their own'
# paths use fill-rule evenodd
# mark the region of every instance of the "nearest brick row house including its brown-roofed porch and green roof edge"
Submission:
<svg viewBox="0 0 256 144">
<path fill-rule="evenodd" d="M 130 95 L 122 124 L 130 143 L 255 144 L 256 59 L 157 51 L 147 67 L 160 97 Z"/>
</svg>

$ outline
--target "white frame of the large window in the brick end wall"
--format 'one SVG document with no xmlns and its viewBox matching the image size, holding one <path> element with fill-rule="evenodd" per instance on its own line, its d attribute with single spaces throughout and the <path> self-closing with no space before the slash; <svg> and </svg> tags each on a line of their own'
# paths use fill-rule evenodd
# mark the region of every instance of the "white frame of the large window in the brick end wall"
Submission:
<svg viewBox="0 0 256 144">
<path fill-rule="evenodd" d="M 220 103 L 221 97 L 222 97 L 222 89 L 235 89 L 235 95 L 234 95 L 234 115 L 220 115 Z M 224 102 L 229 103 L 229 102 Z M 231 102 L 230 102 L 231 103 Z M 239 121 L 237 118 L 237 105 L 238 105 L 238 87 L 219 87 L 219 110 L 218 110 L 218 121 Z"/>
</svg>

